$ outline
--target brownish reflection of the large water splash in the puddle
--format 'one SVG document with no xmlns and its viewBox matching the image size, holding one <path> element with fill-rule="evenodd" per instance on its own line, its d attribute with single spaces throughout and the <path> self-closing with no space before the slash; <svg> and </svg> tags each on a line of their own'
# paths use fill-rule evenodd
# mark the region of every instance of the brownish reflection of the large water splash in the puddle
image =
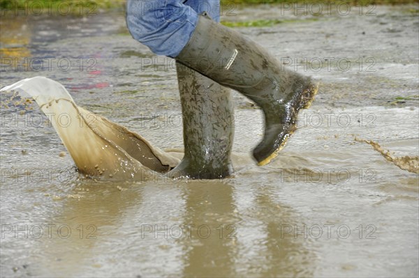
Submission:
<svg viewBox="0 0 419 278">
<path fill-rule="evenodd" d="M 112 237 L 119 235 L 126 211 L 142 203 L 138 188 L 128 190 L 126 185 L 92 180 L 75 185 L 71 193 L 68 199 L 58 200 L 62 203 L 60 210 L 47 219 L 55 226 L 51 238 L 43 236 L 38 242 L 42 256 L 32 264 L 36 275 L 78 277 L 89 269 L 102 268 L 107 262 L 98 256 L 100 250 L 109 252 L 107 248 Z M 118 239 L 124 242 L 123 236 Z M 118 247 L 113 246 L 112 256 L 118 258 Z"/>
</svg>

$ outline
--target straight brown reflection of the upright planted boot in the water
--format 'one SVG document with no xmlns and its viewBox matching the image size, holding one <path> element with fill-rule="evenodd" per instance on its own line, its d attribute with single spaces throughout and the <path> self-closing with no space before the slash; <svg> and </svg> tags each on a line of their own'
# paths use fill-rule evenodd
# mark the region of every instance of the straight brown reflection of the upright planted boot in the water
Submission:
<svg viewBox="0 0 419 278">
<path fill-rule="evenodd" d="M 240 258 L 235 239 L 233 187 L 214 180 L 193 182 L 184 188 L 184 223 L 194 225 L 184 245 L 185 277 L 231 277 Z"/>
</svg>

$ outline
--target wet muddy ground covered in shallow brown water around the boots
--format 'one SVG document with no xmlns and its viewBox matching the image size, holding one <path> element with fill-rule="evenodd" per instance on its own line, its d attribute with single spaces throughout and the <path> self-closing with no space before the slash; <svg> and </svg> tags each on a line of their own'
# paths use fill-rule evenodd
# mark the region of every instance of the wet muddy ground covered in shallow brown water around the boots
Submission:
<svg viewBox="0 0 419 278">
<path fill-rule="evenodd" d="M 224 10 L 267 20 L 237 30 L 321 86 L 267 167 L 249 153 L 260 111 L 235 93 L 226 180 L 82 178 L 41 110 L 1 95 L 1 276 L 417 277 L 418 6 L 343 8 Z M 175 64 L 135 42 L 124 13 L 0 24 L 0 87 L 50 77 L 81 107 L 182 148 Z M 413 172 L 362 140 L 412 157 Z"/>
</svg>

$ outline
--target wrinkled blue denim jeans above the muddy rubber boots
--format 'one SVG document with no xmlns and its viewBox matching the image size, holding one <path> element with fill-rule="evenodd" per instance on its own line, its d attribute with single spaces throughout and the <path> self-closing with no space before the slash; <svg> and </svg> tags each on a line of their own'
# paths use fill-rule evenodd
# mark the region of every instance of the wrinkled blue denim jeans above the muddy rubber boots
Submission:
<svg viewBox="0 0 419 278">
<path fill-rule="evenodd" d="M 128 0 L 126 24 L 131 36 L 155 54 L 175 58 L 195 30 L 198 15 L 219 22 L 219 0 Z"/>
</svg>

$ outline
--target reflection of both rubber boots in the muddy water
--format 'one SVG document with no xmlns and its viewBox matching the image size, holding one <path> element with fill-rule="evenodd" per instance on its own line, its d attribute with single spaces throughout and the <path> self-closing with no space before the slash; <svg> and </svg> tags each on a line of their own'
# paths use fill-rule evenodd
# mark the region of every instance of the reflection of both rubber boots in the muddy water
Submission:
<svg viewBox="0 0 419 278">
<path fill-rule="evenodd" d="M 185 277 L 313 274 L 313 255 L 293 235 L 281 231 L 281 224 L 297 221 L 295 216 L 275 203 L 267 188 L 244 196 L 234 185 L 212 181 L 189 183 L 184 191 L 184 222 L 205 227 L 193 229 L 195 242 L 183 240 Z"/>
</svg>

